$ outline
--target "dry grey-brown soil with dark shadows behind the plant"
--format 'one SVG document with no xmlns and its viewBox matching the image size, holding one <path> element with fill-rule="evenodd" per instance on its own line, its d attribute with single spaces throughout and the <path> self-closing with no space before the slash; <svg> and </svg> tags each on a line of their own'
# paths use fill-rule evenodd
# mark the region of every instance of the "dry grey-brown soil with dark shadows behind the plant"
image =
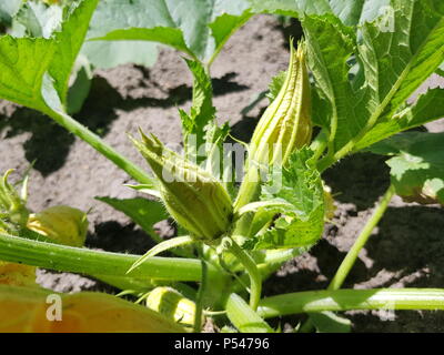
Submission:
<svg viewBox="0 0 444 355">
<path fill-rule="evenodd" d="M 272 75 L 285 69 L 286 39 L 299 33 L 296 24 L 283 29 L 273 17 L 256 17 L 230 39 L 214 62 L 212 77 L 219 119 L 229 120 L 238 138 L 249 140 L 266 100 L 248 114 L 242 114 L 242 109 L 266 89 Z M 444 85 L 443 81 L 435 75 L 427 85 Z M 123 65 L 95 71 L 91 94 L 75 118 L 144 165 L 125 132 L 135 134 L 141 126 L 164 142 L 179 142 L 178 108 L 188 109 L 190 99 L 191 77 L 184 62 L 176 52 L 162 49 L 151 69 Z M 426 129 L 444 131 L 444 123 L 438 121 Z M 4 101 L 0 101 L 0 171 L 12 168 L 23 173 L 36 160 L 29 191 L 33 211 L 56 204 L 92 207 L 89 247 L 131 253 L 149 248 L 149 236 L 123 214 L 94 200 L 94 196 L 134 196 L 133 191 L 122 186 L 129 182 L 125 173 L 49 119 Z M 335 194 L 334 221 L 310 254 L 289 262 L 265 283 L 266 295 L 326 287 L 374 203 L 389 186 L 384 159 L 372 154 L 344 159 L 324 178 Z M 159 231 L 172 233 L 167 223 Z M 394 199 L 344 287 L 444 287 L 443 231 L 444 211 L 440 206 L 406 204 Z M 61 292 L 113 291 L 69 273 L 42 270 L 38 280 L 43 286 Z M 442 312 L 345 315 L 352 320 L 354 332 L 444 332 Z M 295 320 L 281 320 L 282 324 L 289 321 Z"/>
</svg>

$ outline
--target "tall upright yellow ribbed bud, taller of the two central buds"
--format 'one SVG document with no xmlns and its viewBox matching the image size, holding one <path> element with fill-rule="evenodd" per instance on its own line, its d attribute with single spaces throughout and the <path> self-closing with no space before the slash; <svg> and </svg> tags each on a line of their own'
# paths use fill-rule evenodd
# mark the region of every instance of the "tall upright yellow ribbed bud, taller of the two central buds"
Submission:
<svg viewBox="0 0 444 355">
<path fill-rule="evenodd" d="M 235 210 L 253 201 L 259 193 L 261 172 L 285 165 L 291 153 L 306 145 L 312 136 L 311 92 L 304 44 L 291 43 L 290 64 L 279 94 L 259 121 L 249 145 L 246 174 Z"/>
</svg>

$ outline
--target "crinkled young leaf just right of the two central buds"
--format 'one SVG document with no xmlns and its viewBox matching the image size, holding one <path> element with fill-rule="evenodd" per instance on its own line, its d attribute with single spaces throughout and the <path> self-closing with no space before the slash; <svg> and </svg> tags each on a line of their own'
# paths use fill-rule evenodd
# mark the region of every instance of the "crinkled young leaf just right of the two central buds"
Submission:
<svg viewBox="0 0 444 355">
<path fill-rule="evenodd" d="M 309 149 L 293 153 L 282 174 L 263 186 L 262 201 L 280 199 L 286 205 L 279 210 L 281 215 L 266 231 L 248 240 L 243 245 L 245 248 L 309 246 L 321 237 L 324 226 L 324 192 L 321 175 L 311 161 L 312 154 Z M 276 178 L 281 179 L 282 185 Z M 263 219 L 264 214 L 272 212 L 274 216 L 278 211 L 273 207 L 269 211 L 260 209 L 258 212 Z"/>
</svg>

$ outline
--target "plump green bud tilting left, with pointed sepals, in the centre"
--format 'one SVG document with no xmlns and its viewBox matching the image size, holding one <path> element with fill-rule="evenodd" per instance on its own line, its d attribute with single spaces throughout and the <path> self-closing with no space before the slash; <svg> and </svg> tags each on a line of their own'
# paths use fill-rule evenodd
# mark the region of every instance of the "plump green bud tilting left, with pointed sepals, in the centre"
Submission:
<svg viewBox="0 0 444 355">
<path fill-rule="evenodd" d="M 213 175 L 165 149 L 154 136 L 141 132 L 133 140 L 160 182 L 161 197 L 171 216 L 192 236 L 215 242 L 231 225 L 230 195 Z"/>
</svg>

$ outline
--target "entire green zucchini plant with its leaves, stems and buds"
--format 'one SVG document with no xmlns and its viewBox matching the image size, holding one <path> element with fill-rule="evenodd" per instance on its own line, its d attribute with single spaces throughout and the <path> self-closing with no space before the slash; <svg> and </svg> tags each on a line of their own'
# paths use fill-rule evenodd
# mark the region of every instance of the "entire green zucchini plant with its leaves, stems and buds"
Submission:
<svg viewBox="0 0 444 355">
<path fill-rule="evenodd" d="M 137 182 L 130 187 L 158 199 L 103 202 L 150 234 L 154 222 L 171 216 L 180 235 L 158 240 L 143 256 L 67 246 L 29 233 L 29 215 L 18 214 L 4 199 L 0 260 L 103 280 L 170 322 L 157 331 L 178 331 L 179 324 L 180 329 L 200 332 L 212 317 L 226 331 L 273 332 L 266 318 L 297 313 L 309 314 L 297 327 L 301 332 L 323 331 L 326 323 L 342 329 L 346 321 L 333 312 L 443 310 L 441 288 L 341 290 L 394 194 L 421 203 L 444 200 L 443 135 L 401 133 L 444 116 L 443 89 L 407 102 L 444 62 L 444 4 L 381 3 L 83 0 L 64 8 L 60 28 L 48 37 L 1 37 L 0 97 L 46 113 L 125 171 Z M 304 39 L 296 49 L 291 41 L 289 68 L 273 78 L 270 105 L 251 142 L 239 143 L 246 146 L 239 185 L 231 169 L 234 153 L 224 145 L 230 129 L 215 120 L 211 64 L 229 37 L 255 13 L 296 17 Z M 179 111 L 183 152 L 142 130 L 140 138 L 130 136 L 152 173 L 68 114 L 68 82 L 87 36 L 89 42 L 155 41 L 185 55 L 193 97 L 190 112 Z M 263 281 L 322 236 L 332 214 L 322 174 L 364 150 L 394 155 L 387 161 L 392 184 L 329 288 L 263 297 Z M 4 189 L 16 196 L 7 176 Z M 159 256 L 167 251 L 173 256 Z M 10 300 L 19 290 L 2 286 L 0 297 Z M 88 303 L 88 297 L 82 300 Z M 161 322 L 142 307 L 128 310 L 127 321 L 140 310 L 138 320 Z M 143 324 L 139 331 L 153 327 Z"/>
</svg>

